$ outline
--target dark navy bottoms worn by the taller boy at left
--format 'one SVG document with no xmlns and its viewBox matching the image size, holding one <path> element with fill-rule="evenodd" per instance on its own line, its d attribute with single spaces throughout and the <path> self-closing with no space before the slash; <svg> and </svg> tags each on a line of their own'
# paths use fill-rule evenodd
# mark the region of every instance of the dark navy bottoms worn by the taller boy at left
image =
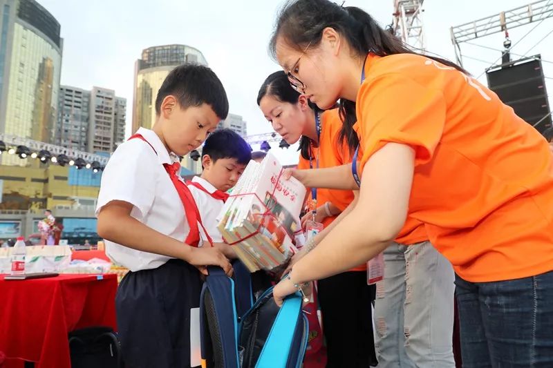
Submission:
<svg viewBox="0 0 553 368">
<path fill-rule="evenodd" d="M 190 367 L 190 309 L 201 287 L 198 269 L 182 260 L 127 273 L 115 297 L 126 368 Z"/>
</svg>

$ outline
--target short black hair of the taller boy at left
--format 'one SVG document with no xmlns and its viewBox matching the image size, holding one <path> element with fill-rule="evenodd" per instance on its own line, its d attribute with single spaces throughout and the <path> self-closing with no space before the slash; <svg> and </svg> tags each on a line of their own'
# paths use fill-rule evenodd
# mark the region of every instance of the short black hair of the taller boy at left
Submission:
<svg viewBox="0 0 553 368">
<path fill-rule="evenodd" d="M 156 97 L 156 114 L 161 114 L 161 104 L 165 97 L 176 97 L 181 108 L 208 104 L 217 117 L 226 119 L 229 113 L 227 93 L 217 75 L 208 68 L 196 63 L 177 66 L 165 77 Z"/>
</svg>

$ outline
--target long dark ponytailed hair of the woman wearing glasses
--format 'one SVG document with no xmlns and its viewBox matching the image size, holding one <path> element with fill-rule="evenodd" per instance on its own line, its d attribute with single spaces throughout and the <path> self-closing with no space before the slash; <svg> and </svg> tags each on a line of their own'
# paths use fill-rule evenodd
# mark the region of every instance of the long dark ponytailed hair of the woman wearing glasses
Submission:
<svg viewBox="0 0 553 368">
<path fill-rule="evenodd" d="M 358 57 L 366 57 L 369 52 L 384 57 L 394 54 L 417 54 L 410 50 L 391 32 L 381 28 L 367 12 L 355 6 L 342 7 L 328 0 L 291 0 L 285 3 L 277 18 L 277 26 L 271 37 L 269 50 L 276 59 L 277 39 L 282 37 L 290 46 L 297 46 L 303 51 L 307 45 L 317 46 L 325 28 L 334 28 L 347 41 Z M 424 55 L 429 59 L 466 71 L 453 62 Z M 340 99 L 339 113 L 343 122 L 340 139 L 346 139 L 350 149 L 355 149 L 359 140 L 353 124 L 355 116 L 355 101 Z"/>
</svg>

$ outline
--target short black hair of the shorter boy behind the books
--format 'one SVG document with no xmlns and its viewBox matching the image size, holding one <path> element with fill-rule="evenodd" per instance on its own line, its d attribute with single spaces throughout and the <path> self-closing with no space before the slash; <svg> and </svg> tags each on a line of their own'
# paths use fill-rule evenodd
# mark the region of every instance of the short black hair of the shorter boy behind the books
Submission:
<svg viewBox="0 0 553 368">
<path fill-rule="evenodd" d="M 252 159 L 252 149 L 238 133 L 224 128 L 215 130 L 205 139 L 202 157 L 204 155 L 209 155 L 213 162 L 234 158 L 238 164 L 247 165 Z"/>
</svg>

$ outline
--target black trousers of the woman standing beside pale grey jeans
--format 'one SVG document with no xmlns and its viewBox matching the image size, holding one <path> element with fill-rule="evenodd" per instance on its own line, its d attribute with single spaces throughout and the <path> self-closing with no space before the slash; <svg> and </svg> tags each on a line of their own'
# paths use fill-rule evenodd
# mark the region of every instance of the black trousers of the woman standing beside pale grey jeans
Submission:
<svg viewBox="0 0 553 368">
<path fill-rule="evenodd" d="M 373 336 L 375 285 L 367 285 L 366 271 L 348 271 L 319 280 L 319 303 L 326 339 L 327 368 L 376 365 Z"/>
</svg>

